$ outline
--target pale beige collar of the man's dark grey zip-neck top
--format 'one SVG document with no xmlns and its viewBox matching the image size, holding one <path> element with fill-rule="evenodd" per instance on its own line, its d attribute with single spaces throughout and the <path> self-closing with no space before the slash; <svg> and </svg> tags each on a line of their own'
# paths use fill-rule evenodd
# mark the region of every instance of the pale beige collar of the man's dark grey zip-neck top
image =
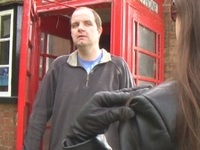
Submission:
<svg viewBox="0 0 200 150">
<path fill-rule="evenodd" d="M 100 63 L 105 63 L 108 61 L 111 61 L 111 54 L 107 52 L 105 49 L 101 49 L 103 52 L 103 57 L 100 60 Z M 69 63 L 71 66 L 79 66 L 78 62 L 78 51 L 74 51 L 69 55 L 69 58 L 67 60 L 67 63 Z"/>
</svg>

